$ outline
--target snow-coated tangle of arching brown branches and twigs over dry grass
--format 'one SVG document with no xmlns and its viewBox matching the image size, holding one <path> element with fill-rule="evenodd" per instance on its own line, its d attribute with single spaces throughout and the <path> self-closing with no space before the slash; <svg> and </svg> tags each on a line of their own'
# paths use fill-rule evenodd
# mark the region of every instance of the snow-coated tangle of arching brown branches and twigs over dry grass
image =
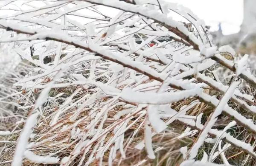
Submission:
<svg viewBox="0 0 256 166">
<path fill-rule="evenodd" d="M 9 2 L 12 3 L 12 0 Z M 82 166 L 84 160 L 86 166 L 95 160 L 102 165 L 106 152 L 109 154 L 108 165 L 111 166 L 117 152 L 125 159 L 127 148 L 142 129 L 144 138 L 135 148 L 145 147 L 148 158 L 154 159 L 154 153 L 157 154 L 164 147 L 157 147 L 157 143 L 152 143 L 152 137 L 160 135 L 163 131 L 169 134 L 168 125 L 173 121 L 187 125 L 175 139 L 199 135 L 191 149 L 187 146 L 178 149 L 184 159 L 189 157 L 181 166 L 214 166 L 215 164 L 209 162 L 213 162 L 216 157 L 221 157 L 223 162 L 229 165 L 223 152 L 229 146 L 235 146 L 256 158 L 254 146 L 227 133 L 227 129 L 236 124 L 256 132 L 256 125 L 250 117 L 241 115 L 239 110 L 227 104 L 231 99 L 238 107 L 256 113 L 256 106 L 249 104 L 254 102 L 253 95 L 244 93 L 240 87 L 236 88 L 239 82 L 235 81 L 231 86 L 224 85 L 221 77 L 217 78 L 217 72 L 215 78 L 218 81 L 201 74 L 215 63 L 221 62 L 236 72 L 236 76 L 239 76 L 237 78 L 244 79 L 243 83 L 256 84 L 256 77 L 247 70 L 248 56 L 245 55 L 236 63 L 236 58 L 233 62 L 221 56 L 220 53 L 227 52 L 234 56 L 236 52 L 229 45 L 220 48 L 212 45 L 211 37 L 205 32 L 204 21 L 188 8 L 159 0 L 162 7 L 160 11 L 157 0 L 135 2 L 136 5 L 120 0 L 45 2 L 41 7 L 24 2 L 23 6 L 27 5 L 33 9 L 17 11 L 12 17 L 8 17 L 8 20 L 0 20 L 2 28 L 6 28 L 0 39 L 4 45 L 2 47 L 1 44 L 1 48 L 5 50 L 4 55 L 12 54 L 9 50 L 13 50 L 17 56 L 36 66 L 29 68 L 26 76 L 15 83 L 15 86 L 26 90 L 26 95 L 18 92 L 6 98 L 23 95 L 26 103 L 19 108 L 32 108 L 34 112 L 39 110 L 41 118 L 38 125 L 42 124 L 42 119 L 44 121 L 47 118 L 52 120 L 50 131 L 58 130 L 47 138 L 44 135 L 48 129 L 42 130 L 40 135 L 32 133 L 38 117 L 36 113 L 27 118 L 21 132 L 0 131 L 0 135 L 20 133 L 12 166 L 22 165 L 24 157 L 34 163 L 61 166 L 67 166 L 79 157 L 81 160 L 77 163 L 78 166 Z M 111 12 L 107 12 L 105 17 L 105 12 L 100 12 L 101 8 Z M 112 12 L 116 14 L 112 16 Z M 173 13 L 192 23 L 197 32 L 189 32 L 183 23 L 172 19 Z M 79 20 L 74 19 L 75 17 L 79 17 Z M 82 20 L 86 20 L 86 23 Z M 10 37 L 12 29 L 18 31 L 18 34 Z M 159 38 L 166 37 L 172 39 L 159 41 Z M 187 45 L 180 44 L 175 38 L 182 39 Z M 138 44 L 137 41 L 141 43 Z M 35 44 L 37 42 L 41 44 Z M 155 45 L 149 46 L 151 42 Z M 27 48 L 32 45 L 36 46 L 35 53 L 39 53 L 39 60 L 30 57 Z M 194 46 L 199 46 L 199 51 Z M 62 53 L 67 55 L 61 58 Z M 44 64 L 43 59 L 49 54 L 54 56 L 54 62 Z M 48 83 L 45 82 L 46 77 L 51 78 Z M 4 87 L 2 84 L 0 86 Z M 68 96 L 65 93 L 48 96 L 52 88 L 63 87 L 74 87 L 75 90 Z M 208 87 L 224 93 L 221 100 L 209 95 L 212 93 L 206 93 Z M 36 99 L 32 92 L 38 89 L 42 90 Z M 248 90 L 250 91 L 250 87 Z M 76 98 L 81 94 L 81 98 Z M 6 98 L 0 98 L 1 103 L 6 102 Z M 193 101 L 175 110 L 173 103 L 178 104 L 184 99 Z M 59 103 L 59 100 L 63 103 Z M 46 101 L 50 103 L 47 107 L 44 105 Z M 201 102 L 204 102 L 204 105 Z M 17 103 L 12 104 L 18 106 Z M 55 106 L 54 111 L 52 105 Z M 215 110 L 204 125 L 201 124 L 204 112 L 193 116 L 187 114 L 188 111 L 205 105 L 215 107 Z M 48 106 L 51 107 L 49 110 Z M 228 117 L 233 117 L 234 121 L 223 130 L 212 129 L 222 112 Z M 46 117 L 49 113 L 49 117 Z M 70 115 L 67 121 L 71 121 L 71 124 L 63 121 L 67 114 Z M 105 125 L 110 120 L 113 122 Z M 18 124 L 22 122 L 18 121 Z M 137 128 L 126 140 L 125 132 L 134 126 Z M 68 138 L 53 142 L 53 139 L 64 133 L 67 133 Z M 107 135 L 109 139 L 106 139 Z M 29 139 L 31 143 L 28 143 Z M 223 139 L 227 143 L 221 147 Z M 65 146 L 61 149 L 66 149 L 68 141 L 73 141 L 74 148 L 67 152 L 67 156 L 61 155 L 61 161 L 55 157 L 58 152 L 42 154 L 36 150 L 38 146 L 55 146 L 62 143 L 65 143 Z M 214 144 L 212 151 L 210 154 L 204 152 L 201 161 L 193 160 L 204 142 Z M 147 160 L 144 159 L 137 165 L 143 165 Z"/>
</svg>

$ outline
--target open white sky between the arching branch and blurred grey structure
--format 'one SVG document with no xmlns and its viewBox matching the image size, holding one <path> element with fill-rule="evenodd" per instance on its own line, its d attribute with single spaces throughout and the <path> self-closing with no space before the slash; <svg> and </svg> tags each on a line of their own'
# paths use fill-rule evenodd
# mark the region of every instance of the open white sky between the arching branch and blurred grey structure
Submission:
<svg viewBox="0 0 256 166">
<path fill-rule="evenodd" d="M 240 30 L 243 20 L 243 0 L 166 0 L 190 8 L 199 18 L 218 30 L 221 23 L 223 34 L 233 34 Z"/>
</svg>

